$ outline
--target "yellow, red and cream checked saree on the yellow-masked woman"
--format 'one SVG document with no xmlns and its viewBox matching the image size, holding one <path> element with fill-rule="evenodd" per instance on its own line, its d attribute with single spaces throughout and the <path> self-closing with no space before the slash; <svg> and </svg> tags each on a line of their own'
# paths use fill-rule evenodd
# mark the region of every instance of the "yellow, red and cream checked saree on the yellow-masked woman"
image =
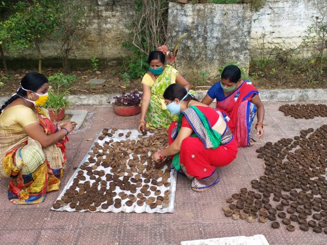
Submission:
<svg viewBox="0 0 327 245">
<path fill-rule="evenodd" d="M 56 126 L 48 117 L 48 112 L 39 107 L 35 109 L 44 132 L 48 135 L 55 133 Z M 8 198 L 15 204 L 43 202 L 46 192 L 59 189 L 59 178 L 66 163 L 64 143 L 68 139 L 65 137 L 62 142 L 42 149 L 40 143 L 25 132 L 0 131 L 0 139 L 13 136 L 20 140 L 3 155 L 0 167 L 1 177 L 12 178 Z"/>
</svg>

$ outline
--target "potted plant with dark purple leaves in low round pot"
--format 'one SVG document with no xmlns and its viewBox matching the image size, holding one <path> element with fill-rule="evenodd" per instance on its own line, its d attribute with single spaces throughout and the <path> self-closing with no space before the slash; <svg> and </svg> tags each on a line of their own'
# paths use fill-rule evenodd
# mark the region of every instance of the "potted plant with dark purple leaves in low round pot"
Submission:
<svg viewBox="0 0 327 245">
<path fill-rule="evenodd" d="M 115 114 L 120 116 L 132 116 L 141 112 L 139 103 L 142 99 L 142 93 L 138 90 L 132 90 L 130 93 L 122 93 L 113 97 L 114 102 L 112 104 Z"/>
</svg>

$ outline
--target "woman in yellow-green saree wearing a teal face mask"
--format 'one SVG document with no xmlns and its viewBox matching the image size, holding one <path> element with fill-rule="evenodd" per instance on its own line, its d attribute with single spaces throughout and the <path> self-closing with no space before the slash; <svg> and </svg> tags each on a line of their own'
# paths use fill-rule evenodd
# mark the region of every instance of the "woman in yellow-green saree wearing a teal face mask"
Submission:
<svg viewBox="0 0 327 245">
<path fill-rule="evenodd" d="M 141 102 L 141 118 L 138 121 L 138 131 L 146 127 L 169 128 L 172 121 L 177 120 L 166 108 L 164 91 L 173 84 L 190 90 L 191 85 L 171 65 L 165 64 L 166 57 L 161 51 L 152 51 L 148 58 L 149 71 L 142 79 L 143 96 Z"/>
</svg>

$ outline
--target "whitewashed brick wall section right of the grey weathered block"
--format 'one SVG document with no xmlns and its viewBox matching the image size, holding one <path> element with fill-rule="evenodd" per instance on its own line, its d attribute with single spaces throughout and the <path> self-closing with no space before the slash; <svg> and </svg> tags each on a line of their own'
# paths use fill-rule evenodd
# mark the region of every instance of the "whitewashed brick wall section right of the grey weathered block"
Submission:
<svg viewBox="0 0 327 245">
<path fill-rule="evenodd" d="M 312 16 L 319 15 L 318 6 L 327 14 L 326 0 L 267 0 L 266 5 L 253 15 L 251 56 L 258 55 L 262 48 L 262 33 L 266 34 L 265 48 L 278 44 L 296 47 L 312 24 Z"/>
</svg>

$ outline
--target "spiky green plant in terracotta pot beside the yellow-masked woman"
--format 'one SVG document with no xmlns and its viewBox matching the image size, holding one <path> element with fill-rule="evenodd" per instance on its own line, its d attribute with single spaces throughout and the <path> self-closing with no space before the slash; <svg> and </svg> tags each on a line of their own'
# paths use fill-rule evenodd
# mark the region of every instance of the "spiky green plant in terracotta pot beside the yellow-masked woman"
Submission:
<svg viewBox="0 0 327 245">
<path fill-rule="evenodd" d="M 64 118 L 65 110 L 69 108 L 68 95 L 71 89 L 73 88 L 68 88 L 60 92 L 58 86 L 56 91 L 52 89 L 48 90 L 49 98 L 43 107 L 48 109 L 52 121 L 60 121 Z"/>
</svg>

